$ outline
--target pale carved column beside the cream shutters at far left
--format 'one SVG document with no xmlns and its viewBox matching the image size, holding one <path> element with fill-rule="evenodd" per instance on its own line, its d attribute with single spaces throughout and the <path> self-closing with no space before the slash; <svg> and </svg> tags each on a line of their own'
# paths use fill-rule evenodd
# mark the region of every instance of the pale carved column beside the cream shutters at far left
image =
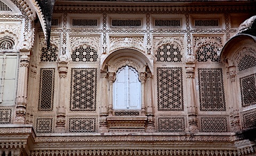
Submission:
<svg viewBox="0 0 256 156">
<path fill-rule="evenodd" d="M 25 124 L 28 89 L 28 67 L 30 60 L 29 55 L 29 50 L 20 50 L 20 68 L 14 124 Z"/>
</svg>

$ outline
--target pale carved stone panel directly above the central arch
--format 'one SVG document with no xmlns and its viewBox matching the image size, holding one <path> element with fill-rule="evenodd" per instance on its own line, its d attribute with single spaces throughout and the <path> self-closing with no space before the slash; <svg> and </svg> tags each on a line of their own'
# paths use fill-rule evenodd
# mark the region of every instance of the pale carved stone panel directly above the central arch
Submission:
<svg viewBox="0 0 256 156">
<path fill-rule="evenodd" d="M 113 51 L 129 48 L 145 53 L 145 44 L 143 37 L 110 37 L 109 53 Z"/>
</svg>

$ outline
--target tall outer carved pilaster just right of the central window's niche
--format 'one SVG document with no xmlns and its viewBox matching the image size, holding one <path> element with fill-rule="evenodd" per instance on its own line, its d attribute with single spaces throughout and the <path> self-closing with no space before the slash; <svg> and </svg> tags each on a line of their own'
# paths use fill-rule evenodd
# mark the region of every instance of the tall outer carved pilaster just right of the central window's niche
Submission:
<svg viewBox="0 0 256 156">
<path fill-rule="evenodd" d="M 153 114 L 153 76 L 151 73 L 147 73 L 147 83 L 145 89 L 145 104 L 146 104 L 146 116 L 148 118 L 146 124 L 146 132 L 153 133 L 155 132 L 155 121 Z"/>
</svg>

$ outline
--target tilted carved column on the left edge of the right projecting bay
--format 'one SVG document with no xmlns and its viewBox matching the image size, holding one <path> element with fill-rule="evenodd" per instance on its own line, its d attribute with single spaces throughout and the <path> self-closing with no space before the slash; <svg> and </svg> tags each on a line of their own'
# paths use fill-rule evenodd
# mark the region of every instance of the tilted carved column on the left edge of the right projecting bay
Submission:
<svg viewBox="0 0 256 156">
<path fill-rule="evenodd" d="M 230 105 L 230 124 L 231 130 L 233 132 L 237 132 L 241 129 L 240 118 L 239 118 L 239 105 L 238 105 L 238 95 L 237 95 L 237 82 L 236 82 L 236 66 L 234 66 L 233 62 L 228 59 L 227 61 L 227 76 L 230 80 L 229 86 L 231 91 L 231 97 L 229 98 Z"/>
</svg>

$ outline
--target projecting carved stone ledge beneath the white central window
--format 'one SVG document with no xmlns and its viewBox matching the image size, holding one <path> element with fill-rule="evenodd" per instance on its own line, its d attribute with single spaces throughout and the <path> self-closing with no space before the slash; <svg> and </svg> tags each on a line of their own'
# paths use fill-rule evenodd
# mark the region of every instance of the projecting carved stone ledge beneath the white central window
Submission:
<svg viewBox="0 0 256 156">
<path fill-rule="evenodd" d="M 107 117 L 109 132 L 145 132 L 146 116 Z"/>
</svg>

